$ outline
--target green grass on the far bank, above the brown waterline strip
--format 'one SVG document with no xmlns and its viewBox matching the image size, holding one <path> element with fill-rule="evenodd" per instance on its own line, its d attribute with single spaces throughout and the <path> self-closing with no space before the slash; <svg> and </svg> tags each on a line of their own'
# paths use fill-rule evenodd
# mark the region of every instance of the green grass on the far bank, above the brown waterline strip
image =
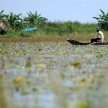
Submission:
<svg viewBox="0 0 108 108">
<path fill-rule="evenodd" d="M 36 26 L 36 25 L 32 25 Z M 96 37 L 96 27 L 98 25 L 96 23 L 80 23 L 78 21 L 72 22 L 61 22 L 61 21 L 55 21 L 55 22 L 45 22 L 42 24 L 39 24 L 37 26 L 37 30 L 34 32 L 21 32 L 20 31 L 12 31 L 9 30 L 7 34 L 0 35 L 0 37 L 67 37 L 67 38 L 74 38 L 80 40 L 88 40 L 92 37 Z M 103 30 L 102 30 L 103 31 Z M 105 36 L 108 36 L 107 31 L 103 31 Z"/>
</svg>

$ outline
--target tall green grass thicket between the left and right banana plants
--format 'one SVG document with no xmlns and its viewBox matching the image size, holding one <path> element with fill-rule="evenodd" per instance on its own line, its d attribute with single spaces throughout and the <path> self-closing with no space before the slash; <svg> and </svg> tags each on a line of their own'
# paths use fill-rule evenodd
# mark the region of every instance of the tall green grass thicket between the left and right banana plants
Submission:
<svg viewBox="0 0 108 108">
<path fill-rule="evenodd" d="M 81 24 L 78 21 L 72 22 L 72 21 L 67 21 L 67 22 L 60 22 L 60 21 L 55 21 L 55 22 L 46 22 L 43 24 L 40 24 L 38 26 L 38 31 L 37 32 L 43 32 L 43 34 L 46 35 L 58 35 L 58 36 L 70 36 L 70 35 L 77 35 L 77 34 L 82 34 L 86 33 L 87 35 L 90 34 L 91 32 L 95 32 L 97 24 L 95 23 L 85 23 Z"/>
</svg>

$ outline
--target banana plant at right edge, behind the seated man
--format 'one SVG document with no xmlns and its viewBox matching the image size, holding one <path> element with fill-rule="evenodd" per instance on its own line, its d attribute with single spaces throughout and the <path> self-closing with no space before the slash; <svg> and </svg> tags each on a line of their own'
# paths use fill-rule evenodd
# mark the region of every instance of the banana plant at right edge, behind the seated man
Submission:
<svg viewBox="0 0 108 108">
<path fill-rule="evenodd" d="M 93 18 L 98 21 L 98 25 L 102 29 L 108 30 L 108 13 L 105 14 L 105 12 L 101 9 L 100 11 L 101 11 L 101 14 L 99 14 L 98 17 L 93 17 Z"/>
</svg>

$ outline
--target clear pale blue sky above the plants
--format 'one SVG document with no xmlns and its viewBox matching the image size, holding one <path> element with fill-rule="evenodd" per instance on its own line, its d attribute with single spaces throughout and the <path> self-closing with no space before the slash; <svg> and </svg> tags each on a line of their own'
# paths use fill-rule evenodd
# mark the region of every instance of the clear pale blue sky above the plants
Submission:
<svg viewBox="0 0 108 108">
<path fill-rule="evenodd" d="M 37 12 L 48 21 L 97 22 L 92 17 L 108 12 L 108 0 L 0 0 L 0 11 L 4 14 L 22 13 L 22 18 L 30 11 Z"/>
</svg>

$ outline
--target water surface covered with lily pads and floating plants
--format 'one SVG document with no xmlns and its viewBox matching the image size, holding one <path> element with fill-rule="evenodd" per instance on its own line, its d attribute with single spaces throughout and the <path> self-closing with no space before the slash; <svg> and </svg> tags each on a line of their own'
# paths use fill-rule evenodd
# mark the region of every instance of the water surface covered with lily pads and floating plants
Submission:
<svg viewBox="0 0 108 108">
<path fill-rule="evenodd" d="M 107 53 L 107 46 L 67 42 L 0 43 L 8 103 L 11 108 L 107 107 Z"/>
</svg>

